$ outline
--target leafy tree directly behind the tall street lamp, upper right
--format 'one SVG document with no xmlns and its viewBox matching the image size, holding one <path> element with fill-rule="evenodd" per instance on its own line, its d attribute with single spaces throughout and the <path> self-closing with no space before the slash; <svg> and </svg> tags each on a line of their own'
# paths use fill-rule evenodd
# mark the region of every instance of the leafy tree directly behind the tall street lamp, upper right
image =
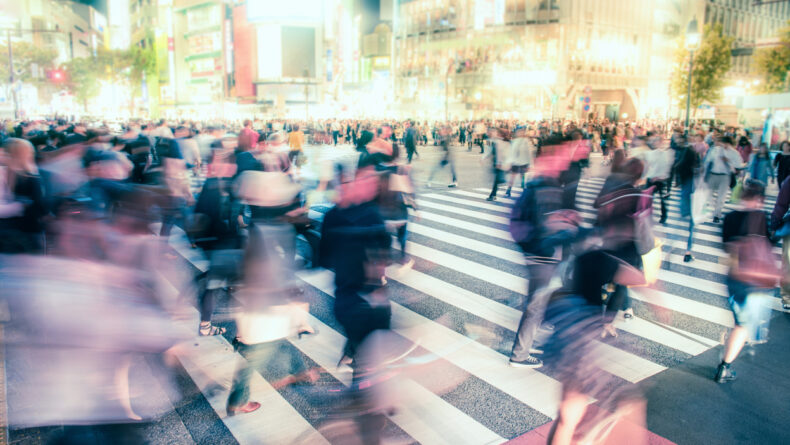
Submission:
<svg viewBox="0 0 790 445">
<path fill-rule="evenodd" d="M 721 98 L 724 76 L 732 64 L 732 37 L 724 36 L 720 24 L 705 25 L 702 41 L 694 51 L 691 76 L 691 109 L 705 102 L 715 103 Z M 676 53 L 675 72 L 672 76 L 672 94 L 681 104 L 686 103 L 688 92 L 689 51 L 682 42 Z"/>
</svg>

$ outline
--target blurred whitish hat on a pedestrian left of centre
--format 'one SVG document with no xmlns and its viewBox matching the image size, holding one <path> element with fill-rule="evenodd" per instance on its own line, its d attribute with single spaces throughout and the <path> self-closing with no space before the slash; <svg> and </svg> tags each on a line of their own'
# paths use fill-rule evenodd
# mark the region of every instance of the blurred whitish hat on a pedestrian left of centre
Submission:
<svg viewBox="0 0 790 445">
<path fill-rule="evenodd" d="M 302 190 L 283 172 L 245 171 L 239 176 L 238 196 L 259 207 L 282 207 L 293 202 Z"/>
</svg>

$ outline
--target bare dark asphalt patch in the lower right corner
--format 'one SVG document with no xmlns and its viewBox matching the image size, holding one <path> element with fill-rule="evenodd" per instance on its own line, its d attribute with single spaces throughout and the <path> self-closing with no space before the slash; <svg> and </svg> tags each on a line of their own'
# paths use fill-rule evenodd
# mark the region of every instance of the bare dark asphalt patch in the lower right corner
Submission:
<svg viewBox="0 0 790 445">
<path fill-rule="evenodd" d="M 735 360 L 734 382 L 713 381 L 721 346 L 645 381 L 648 429 L 683 444 L 790 443 L 790 314 L 774 312 L 769 335 Z"/>
</svg>

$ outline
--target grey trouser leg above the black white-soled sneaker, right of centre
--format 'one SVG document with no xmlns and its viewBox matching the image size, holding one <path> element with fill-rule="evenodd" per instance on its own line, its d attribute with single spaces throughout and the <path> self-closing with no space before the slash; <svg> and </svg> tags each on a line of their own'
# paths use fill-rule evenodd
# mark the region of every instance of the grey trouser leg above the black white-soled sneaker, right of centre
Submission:
<svg viewBox="0 0 790 445">
<path fill-rule="evenodd" d="M 529 289 L 527 290 L 527 304 L 521 315 L 516 340 L 510 353 L 510 360 L 518 362 L 530 356 L 530 349 L 535 341 L 538 327 L 543 321 L 546 304 L 549 300 L 548 292 L 540 292 L 549 284 L 554 273 L 554 264 L 531 264 L 527 266 L 529 276 Z"/>
</svg>

